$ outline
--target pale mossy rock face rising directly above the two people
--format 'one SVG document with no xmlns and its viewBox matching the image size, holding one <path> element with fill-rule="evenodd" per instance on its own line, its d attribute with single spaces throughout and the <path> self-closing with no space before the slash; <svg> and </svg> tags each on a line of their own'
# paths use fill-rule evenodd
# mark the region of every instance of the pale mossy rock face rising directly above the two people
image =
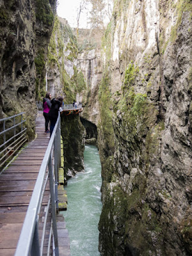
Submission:
<svg viewBox="0 0 192 256">
<path fill-rule="evenodd" d="M 54 95 L 63 95 L 65 104 L 76 100 L 84 90 L 82 72 L 77 71 L 77 39 L 67 20 L 56 17 L 48 48 L 47 88 Z"/>
</svg>

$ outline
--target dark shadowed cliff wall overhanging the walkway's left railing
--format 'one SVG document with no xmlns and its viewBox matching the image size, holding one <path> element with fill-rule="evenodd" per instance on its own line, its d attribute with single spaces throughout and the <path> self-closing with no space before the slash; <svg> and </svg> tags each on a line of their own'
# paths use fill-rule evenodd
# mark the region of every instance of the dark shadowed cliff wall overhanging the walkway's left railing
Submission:
<svg viewBox="0 0 192 256">
<path fill-rule="evenodd" d="M 34 137 L 56 0 L 0 1 L 0 118 L 26 111 Z"/>
</svg>

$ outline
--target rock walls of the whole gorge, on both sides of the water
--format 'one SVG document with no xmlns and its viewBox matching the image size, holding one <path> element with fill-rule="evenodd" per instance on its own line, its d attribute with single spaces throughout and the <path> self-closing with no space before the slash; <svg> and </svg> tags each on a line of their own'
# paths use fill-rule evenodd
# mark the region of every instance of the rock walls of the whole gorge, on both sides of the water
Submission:
<svg viewBox="0 0 192 256">
<path fill-rule="evenodd" d="M 25 111 L 32 140 L 46 91 L 81 102 L 61 116 L 65 182 L 97 145 L 100 255 L 191 255 L 191 0 L 115 0 L 102 36 L 56 3 L 0 1 L 1 118 Z"/>
</svg>

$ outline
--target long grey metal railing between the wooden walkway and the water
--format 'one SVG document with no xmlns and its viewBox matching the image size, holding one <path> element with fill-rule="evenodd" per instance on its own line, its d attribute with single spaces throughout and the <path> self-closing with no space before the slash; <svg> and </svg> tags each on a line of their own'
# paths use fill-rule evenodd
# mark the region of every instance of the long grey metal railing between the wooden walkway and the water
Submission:
<svg viewBox="0 0 192 256">
<path fill-rule="evenodd" d="M 26 218 L 22 226 L 22 230 L 19 237 L 19 242 L 17 244 L 17 249 L 15 256 L 39 256 L 42 255 L 42 246 L 40 245 L 40 239 L 38 234 L 38 218 L 40 206 L 42 204 L 42 191 L 45 190 L 45 175 L 48 167 L 49 170 L 49 187 L 51 193 L 51 213 L 52 213 L 52 231 L 54 237 L 54 253 L 56 256 L 59 255 L 58 250 L 58 234 L 57 234 L 57 225 L 56 225 L 56 198 L 57 189 L 58 189 L 58 168 L 60 167 L 60 152 L 61 148 L 61 131 L 60 131 L 60 115 L 58 115 L 58 120 L 52 132 L 47 150 L 45 152 L 38 177 L 36 179 L 35 188 L 31 196 L 31 200 L 28 206 L 28 211 L 26 213 Z M 52 156 L 54 155 L 54 162 L 52 161 Z M 57 156 L 57 157 L 56 157 Z M 47 209 L 48 211 L 48 209 Z M 44 223 L 46 225 L 46 223 Z M 42 238 L 44 239 L 44 238 Z"/>
</svg>

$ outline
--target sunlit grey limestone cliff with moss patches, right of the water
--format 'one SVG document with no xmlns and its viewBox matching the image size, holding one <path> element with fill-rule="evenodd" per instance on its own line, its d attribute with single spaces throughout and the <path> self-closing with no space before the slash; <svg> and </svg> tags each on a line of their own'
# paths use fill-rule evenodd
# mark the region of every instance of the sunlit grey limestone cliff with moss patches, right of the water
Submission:
<svg viewBox="0 0 192 256">
<path fill-rule="evenodd" d="M 115 1 L 99 86 L 101 255 L 191 255 L 191 1 Z"/>
</svg>

